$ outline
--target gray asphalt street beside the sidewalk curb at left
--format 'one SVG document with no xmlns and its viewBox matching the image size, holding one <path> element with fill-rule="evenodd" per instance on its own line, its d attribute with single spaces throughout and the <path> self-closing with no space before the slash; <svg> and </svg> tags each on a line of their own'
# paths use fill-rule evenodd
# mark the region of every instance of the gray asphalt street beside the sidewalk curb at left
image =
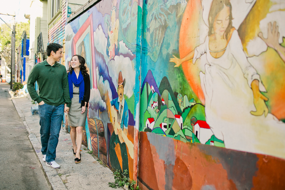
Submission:
<svg viewBox="0 0 285 190">
<path fill-rule="evenodd" d="M 0 83 L 0 189 L 50 189 L 7 88 Z"/>
</svg>

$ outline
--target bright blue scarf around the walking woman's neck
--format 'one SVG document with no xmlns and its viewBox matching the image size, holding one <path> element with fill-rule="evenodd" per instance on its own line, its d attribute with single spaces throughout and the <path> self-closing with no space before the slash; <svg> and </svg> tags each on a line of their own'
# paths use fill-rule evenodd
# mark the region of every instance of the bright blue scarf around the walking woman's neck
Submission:
<svg viewBox="0 0 285 190">
<path fill-rule="evenodd" d="M 76 74 L 74 71 L 72 71 L 72 73 L 69 73 L 68 84 L 69 84 L 70 99 L 73 98 L 73 85 L 72 84 L 74 84 L 76 87 L 79 86 L 79 103 L 81 104 L 81 100 L 83 100 L 83 95 L 84 95 L 84 80 L 83 80 L 83 75 L 81 71 L 79 72 L 78 78 L 76 77 Z"/>
</svg>

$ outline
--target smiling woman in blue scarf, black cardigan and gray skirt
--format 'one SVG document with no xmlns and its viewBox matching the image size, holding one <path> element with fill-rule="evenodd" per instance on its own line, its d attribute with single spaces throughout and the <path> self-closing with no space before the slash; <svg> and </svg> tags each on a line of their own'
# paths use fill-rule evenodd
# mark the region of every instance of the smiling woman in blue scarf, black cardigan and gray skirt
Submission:
<svg viewBox="0 0 285 190">
<path fill-rule="evenodd" d="M 90 77 L 86 69 L 85 59 L 74 55 L 70 60 L 68 83 L 71 107 L 67 114 L 67 121 L 71 126 L 70 137 L 72 151 L 76 156 L 76 164 L 81 162 L 81 143 L 83 138 L 83 127 L 85 126 L 88 102 L 90 98 Z"/>
</svg>

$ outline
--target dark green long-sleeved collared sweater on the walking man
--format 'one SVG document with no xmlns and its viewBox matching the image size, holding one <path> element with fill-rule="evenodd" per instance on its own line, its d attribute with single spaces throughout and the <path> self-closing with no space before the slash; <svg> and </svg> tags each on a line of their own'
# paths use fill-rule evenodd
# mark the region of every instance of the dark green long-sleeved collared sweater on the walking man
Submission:
<svg viewBox="0 0 285 190">
<path fill-rule="evenodd" d="M 39 94 L 35 89 L 36 81 Z M 67 107 L 71 106 L 66 69 L 57 62 L 53 66 L 47 60 L 36 64 L 29 75 L 27 88 L 31 98 L 38 103 L 44 101 L 53 106 L 65 103 Z"/>
</svg>

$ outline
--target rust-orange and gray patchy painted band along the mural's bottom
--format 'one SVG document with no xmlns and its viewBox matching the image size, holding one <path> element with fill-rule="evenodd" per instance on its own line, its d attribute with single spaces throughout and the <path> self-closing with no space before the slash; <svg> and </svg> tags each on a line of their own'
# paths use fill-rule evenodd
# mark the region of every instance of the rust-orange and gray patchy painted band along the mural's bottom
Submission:
<svg viewBox="0 0 285 190">
<path fill-rule="evenodd" d="M 281 190 L 284 159 L 140 132 L 140 189 Z M 151 172 L 150 172 L 151 171 Z"/>
</svg>

